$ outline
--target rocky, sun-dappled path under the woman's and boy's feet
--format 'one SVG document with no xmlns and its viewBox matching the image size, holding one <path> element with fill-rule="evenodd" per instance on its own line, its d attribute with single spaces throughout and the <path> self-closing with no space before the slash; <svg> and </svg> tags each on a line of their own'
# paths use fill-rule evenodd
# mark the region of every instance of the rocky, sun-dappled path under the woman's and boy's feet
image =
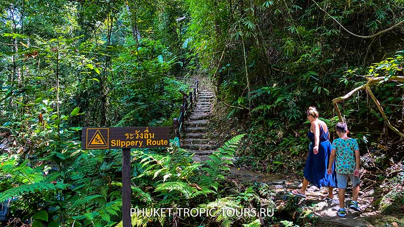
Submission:
<svg viewBox="0 0 404 227">
<path fill-rule="evenodd" d="M 334 199 L 327 200 L 327 189 L 318 189 L 316 186 L 309 185 L 306 196 L 307 198 L 299 198 L 290 192 L 293 189 L 301 187 L 301 180 L 281 176 L 276 174 L 265 174 L 261 172 L 250 171 L 242 168 L 231 169 L 232 179 L 240 183 L 259 182 L 266 183 L 269 188 L 276 193 L 274 202 L 278 210 L 282 210 L 287 200 L 296 198 L 298 207 L 306 207 L 307 212 L 314 214 L 313 219 L 308 219 L 307 223 L 313 223 L 315 226 L 404 226 L 404 219 L 381 214 L 379 210 L 374 210 L 372 205 L 378 197 L 373 190 L 361 192 L 358 202 L 363 212 L 353 211 L 347 208 L 347 216 L 345 218 L 337 216 L 339 209 L 338 191 L 334 189 Z M 348 207 L 351 201 L 351 190 L 346 190 L 345 206 Z M 296 206 L 296 208 L 297 208 Z M 397 216 L 397 215 L 396 215 Z"/>
</svg>

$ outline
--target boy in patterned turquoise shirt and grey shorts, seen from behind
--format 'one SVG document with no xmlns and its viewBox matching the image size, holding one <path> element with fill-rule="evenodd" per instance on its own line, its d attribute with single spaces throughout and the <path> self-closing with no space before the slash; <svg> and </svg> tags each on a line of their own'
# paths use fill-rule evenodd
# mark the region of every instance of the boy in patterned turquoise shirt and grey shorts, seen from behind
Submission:
<svg viewBox="0 0 404 227">
<path fill-rule="evenodd" d="M 336 172 L 337 172 L 337 184 L 338 184 L 338 197 L 339 197 L 339 210 L 338 216 L 345 217 L 345 189 L 348 181 L 348 177 L 352 182 L 352 201 L 349 204 L 349 208 L 356 211 L 361 211 L 358 206 L 358 194 L 359 194 L 359 168 L 361 157 L 359 153 L 358 142 L 355 139 L 347 136 L 348 127 L 345 123 L 338 123 L 336 131 L 339 136 L 332 142 L 332 150 L 330 155 L 330 161 L 328 162 L 327 173 L 332 172 L 332 163 L 336 158 Z"/>
</svg>

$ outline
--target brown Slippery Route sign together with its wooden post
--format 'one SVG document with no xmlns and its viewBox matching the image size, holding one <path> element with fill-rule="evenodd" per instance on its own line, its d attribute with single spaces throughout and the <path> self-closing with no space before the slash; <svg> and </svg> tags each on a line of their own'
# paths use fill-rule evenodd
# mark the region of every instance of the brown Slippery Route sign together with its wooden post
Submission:
<svg viewBox="0 0 404 227">
<path fill-rule="evenodd" d="M 122 222 L 131 227 L 130 148 L 169 147 L 169 127 L 82 128 L 81 147 L 122 149 Z"/>
</svg>

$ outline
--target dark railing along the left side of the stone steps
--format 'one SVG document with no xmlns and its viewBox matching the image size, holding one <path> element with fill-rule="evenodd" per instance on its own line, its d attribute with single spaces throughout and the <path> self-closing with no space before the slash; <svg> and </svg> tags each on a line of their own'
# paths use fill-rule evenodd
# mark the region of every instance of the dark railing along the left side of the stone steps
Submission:
<svg viewBox="0 0 404 227">
<path fill-rule="evenodd" d="M 177 77 L 175 77 L 177 78 Z M 187 78 L 180 78 L 180 79 L 187 79 Z M 182 94 L 182 104 L 180 106 L 180 115 L 178 118 L 173 119 L 173 131 L 174 131 L 174 141 L 177 143 L 178 146 L 181 146 L 181 135 L 180 132 L 182 131 L 185 133 L 185 122 L 184 119 L 188 117 L 188 113 L 193 110 L 193 105 L 196 104 L 198 93 L 199 93 L 199 82 L 195 79 L 187 79 L 193 80 L 193 89 L 188 94 L 179 90 Z M 188 104 L 189 102 L 189 104 Z M 188 109 L 190 111 L 188 111 Z"/>
</svg>

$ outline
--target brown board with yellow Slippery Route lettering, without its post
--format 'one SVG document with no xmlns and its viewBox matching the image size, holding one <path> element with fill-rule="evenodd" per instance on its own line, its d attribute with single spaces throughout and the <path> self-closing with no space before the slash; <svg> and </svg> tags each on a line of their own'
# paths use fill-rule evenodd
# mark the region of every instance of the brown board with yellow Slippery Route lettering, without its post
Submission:
<svg viewBox="0 0 404 227">
<path fill-rule="evenodd" d="M 81 132 L 85 150 L 170 146 L 169 127 L 82 128 Z"/>
</svg>

